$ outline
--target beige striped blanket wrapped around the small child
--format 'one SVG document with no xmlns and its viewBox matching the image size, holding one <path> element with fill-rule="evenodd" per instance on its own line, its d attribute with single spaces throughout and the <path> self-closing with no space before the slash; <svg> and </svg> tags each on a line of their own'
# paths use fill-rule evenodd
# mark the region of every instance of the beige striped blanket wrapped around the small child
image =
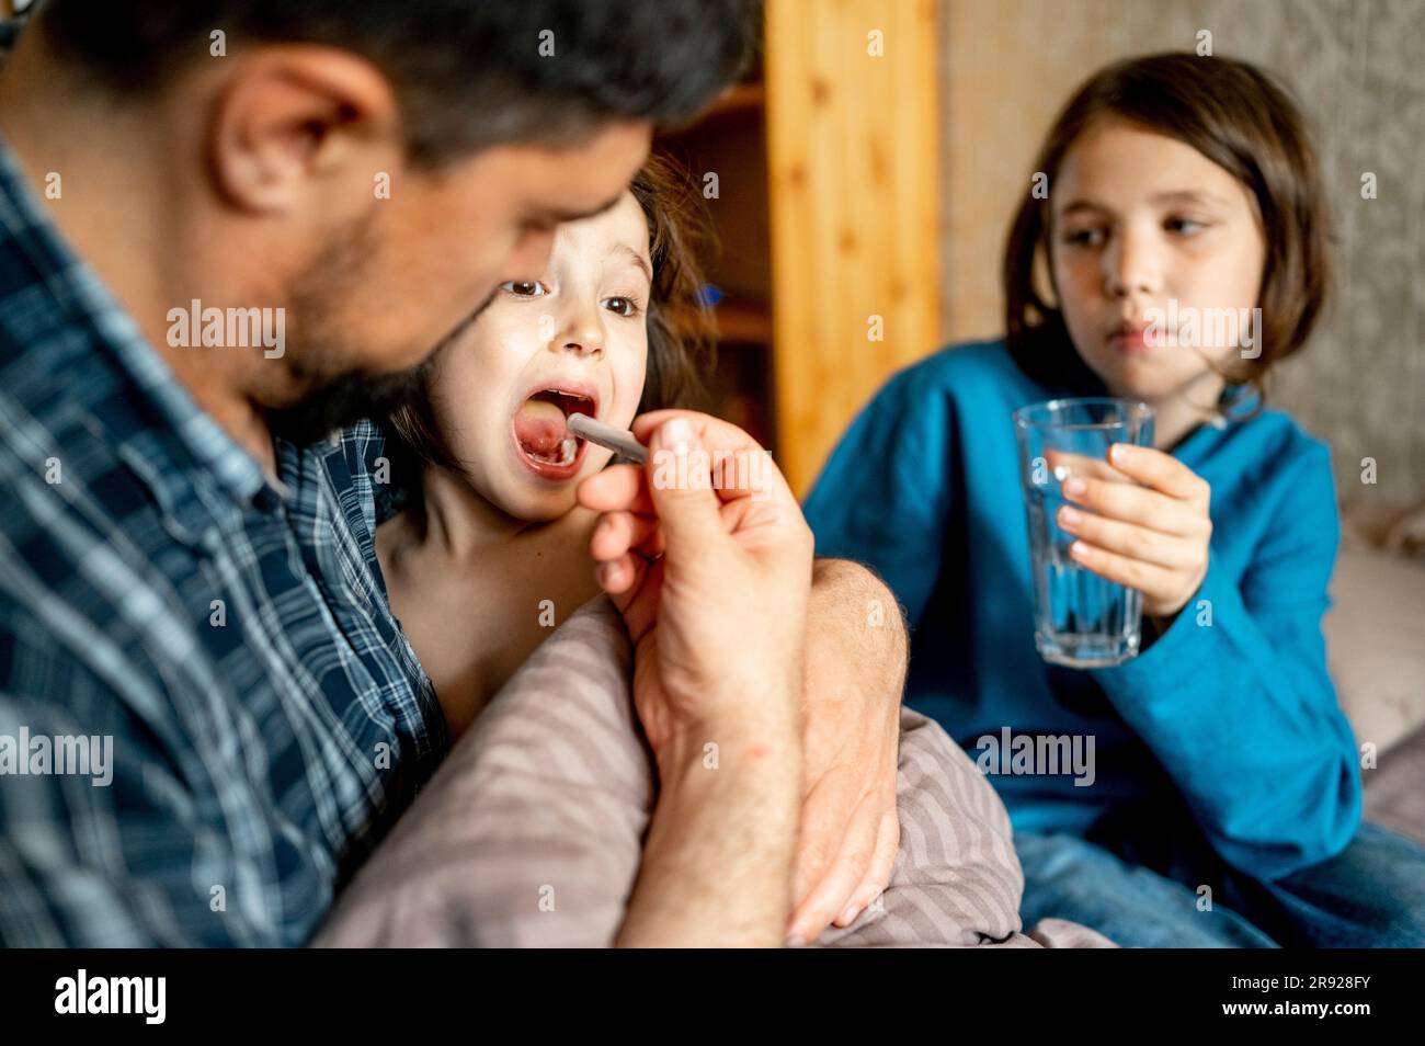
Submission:
<svg viewBox="0 0 1425 1046">
<path fill-rule="evenodd" d="M 536 651 L 338 898 L 319 946 L 607 946 L 654 799 L 607 599 Z M 901 851 L 879 901 L 821 946 L 1112 948 L 1020 932 L 1023 875 L 995 789 L 938 724 L 901 718 Z"/>
</svg>

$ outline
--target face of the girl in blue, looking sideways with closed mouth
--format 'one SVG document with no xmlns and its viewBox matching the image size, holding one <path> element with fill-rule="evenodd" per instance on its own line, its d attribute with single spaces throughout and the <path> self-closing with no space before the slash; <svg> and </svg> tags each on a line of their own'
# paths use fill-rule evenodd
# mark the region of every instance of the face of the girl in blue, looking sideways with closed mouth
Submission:
<svg viewBox="0 0 1425 1046">
<path fill-rule="evenodd" d="M 1191 145 L 1106 121 L 1049 191 L 1059 308 L 1084 363 L 1150 403 L 1220 382 L 1210 363 L 1241 351 L 1248 329 L 1231 325 L 1251 316 L 1265 261 L 1247 188 Z M 1156 339 L 1150 323 L 1173 318 Z"/>
</svg>

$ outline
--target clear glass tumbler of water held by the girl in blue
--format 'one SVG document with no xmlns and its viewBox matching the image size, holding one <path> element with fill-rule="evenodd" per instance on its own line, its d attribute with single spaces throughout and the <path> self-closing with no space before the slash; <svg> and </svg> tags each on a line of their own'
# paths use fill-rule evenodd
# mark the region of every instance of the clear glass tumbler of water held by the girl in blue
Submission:
<svg viewBox="0 0 1425 1046">
<path fill-rule="evenodd" d="M 1072 476 L 1131 483 L 1109 465 L 1113 443 L 1153 445 L 1153 408 L 1131 399 L 1052 399 L 1015 412 L 1035 583 L 1035 646 L 1072 668 L 1120 664 L 1139 653 L 1143 596 L 1069 556 L 1074 536 L 1054 516 Z M 1080 512 L 1087 512 L 1082 504 Z"/>
</svg>

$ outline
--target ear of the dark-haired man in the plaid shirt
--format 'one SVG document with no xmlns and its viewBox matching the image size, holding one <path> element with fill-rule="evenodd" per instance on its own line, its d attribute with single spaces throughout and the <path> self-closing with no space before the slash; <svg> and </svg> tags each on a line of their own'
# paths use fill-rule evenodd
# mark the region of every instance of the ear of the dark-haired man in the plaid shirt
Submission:
<svg viewBox="0 0 1425 1046">
<path fill-rule="evenodd" d="M 315 46 L 261 47 L 238 61 L 208 138 L 228 204 L 272 215 L 332 204 L 342 212 L 351 191 L 359 209 L 373 174 L 402 161 L 395 93 L 370 63 Z"/>
</svg>

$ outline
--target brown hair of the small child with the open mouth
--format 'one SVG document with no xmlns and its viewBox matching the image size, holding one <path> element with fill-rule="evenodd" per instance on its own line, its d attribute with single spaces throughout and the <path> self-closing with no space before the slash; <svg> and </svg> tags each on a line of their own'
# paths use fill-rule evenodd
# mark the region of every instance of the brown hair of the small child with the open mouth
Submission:
<svg viewBox="0 0 1425 1046">
<path fill-rule="evenodd" d="M 704 298 L 701 265 L 715 247 L 707 207 L 687 172 L 657 152 L 638 168 L 628 190 L 648 222 L 653 262 L 644 315 L 648 362 L 638 413 L 705 408 L 717 353 L 717 326 Z M 398 455 L 459 467 L 435 423 L 429 386 L 392 412 L 389 429 L 398 437 Z"/>
</svg>

